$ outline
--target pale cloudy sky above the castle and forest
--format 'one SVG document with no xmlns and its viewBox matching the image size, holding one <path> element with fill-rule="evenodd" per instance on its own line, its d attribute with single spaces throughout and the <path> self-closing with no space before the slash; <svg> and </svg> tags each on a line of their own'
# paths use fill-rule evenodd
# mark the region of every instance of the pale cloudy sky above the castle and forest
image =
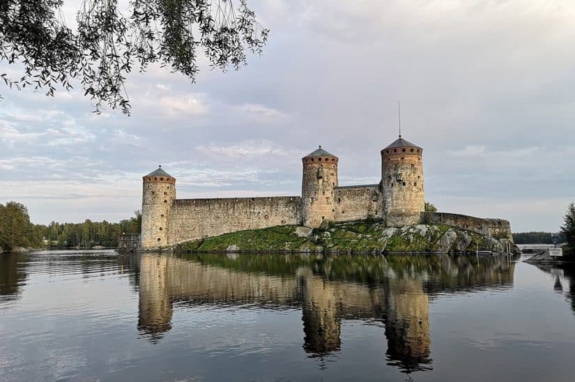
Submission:
<svg viewBox="0 0 575 382">
<path fill-rule="evenodd" d="M 130 117 L 92 114 L 80 91 L 0 88 L 0 203 L 36 223 L 118 221 L 159 163 L 179 198 L 298 195 L 318 144 L 339 157 L 340 184 L 377 183 L 401 100 L 440 211 L 558 230 L 575 200 L 573 1 L 249 4 L 271 30 L 263 56 L 238 72 L 204 65 L 194 85 L 135 73 Z"/>
</svg>

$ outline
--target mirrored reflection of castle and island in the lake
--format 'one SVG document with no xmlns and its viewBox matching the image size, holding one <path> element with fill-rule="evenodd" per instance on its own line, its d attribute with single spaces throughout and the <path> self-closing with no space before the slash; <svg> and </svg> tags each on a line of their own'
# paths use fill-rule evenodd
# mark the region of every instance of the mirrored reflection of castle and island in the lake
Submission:
<svg viewBox="0 0 575 382">
<path fill-rule="evenodd" d="M 300 308 L 303 349 L 339 351 L 342 321 L 385 327 L 387 361 L 406 372 L 431 369 L 429 301 L 445 293 L 512 286 L 507 257 L 304 254 L 141 254 L 135 268 L 138 328 L 151 342 L 171 329 L 174 303 Z"/>
</svg>

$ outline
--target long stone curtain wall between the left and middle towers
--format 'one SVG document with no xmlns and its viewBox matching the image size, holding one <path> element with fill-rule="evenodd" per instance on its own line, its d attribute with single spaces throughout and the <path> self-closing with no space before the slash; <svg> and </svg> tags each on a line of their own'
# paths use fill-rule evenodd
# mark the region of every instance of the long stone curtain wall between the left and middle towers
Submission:
<svg viewBox="0 0 575 382">
<path fill-rule="evenodd" d="M 186 240 L 301 223 L 301 197 L 176 199 L 169 215 L 169 245 Z"/>
</svg>

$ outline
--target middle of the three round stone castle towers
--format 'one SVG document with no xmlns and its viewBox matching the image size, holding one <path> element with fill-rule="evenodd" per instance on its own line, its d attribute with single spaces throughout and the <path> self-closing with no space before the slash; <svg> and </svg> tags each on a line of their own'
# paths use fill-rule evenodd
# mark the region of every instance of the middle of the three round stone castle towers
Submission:
<svg viewBox="0 0 575 382">
<path fill-rule="evenodd" d="M 324 220 L 333 220 L 334 194 L 337 186 L 335 155 L 321 146 L 302 158 L 302 224 L 319 227 Z"/>
</svg>

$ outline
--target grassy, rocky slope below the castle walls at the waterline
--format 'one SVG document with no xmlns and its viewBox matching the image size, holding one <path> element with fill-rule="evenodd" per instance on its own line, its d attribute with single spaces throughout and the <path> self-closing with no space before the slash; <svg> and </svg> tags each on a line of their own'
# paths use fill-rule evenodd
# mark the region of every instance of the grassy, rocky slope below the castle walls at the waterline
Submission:
<svg viewBox="0 0 575 382">
<path fill-rule="evenodd" d="M 372 220 L 237 231 L 171 247 L 174 252 L 503 252 L 500 238 L 441 224 L 386 228 Z"/>
</svg>

